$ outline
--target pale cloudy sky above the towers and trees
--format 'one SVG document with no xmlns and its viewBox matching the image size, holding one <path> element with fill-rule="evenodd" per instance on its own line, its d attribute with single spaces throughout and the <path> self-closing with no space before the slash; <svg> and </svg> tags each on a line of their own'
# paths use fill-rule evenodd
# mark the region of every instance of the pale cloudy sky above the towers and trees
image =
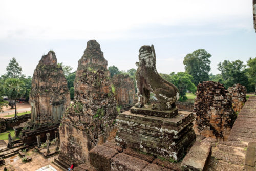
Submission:
<svg viewBox="0 0 256 171">
<path fill-rule="evenodd" d="M 49 50 L 76 70 L 90 39 L 119 70 L 136 68 L 139 48 L 151 44 L 161 73 L 184 71 L 197 49 L 212 55 L 214 74 L 225 59 L 256 57 L 252 0 L 0 1 L 0 75 L 15 57 L 32 76 Z"/>
</svg>

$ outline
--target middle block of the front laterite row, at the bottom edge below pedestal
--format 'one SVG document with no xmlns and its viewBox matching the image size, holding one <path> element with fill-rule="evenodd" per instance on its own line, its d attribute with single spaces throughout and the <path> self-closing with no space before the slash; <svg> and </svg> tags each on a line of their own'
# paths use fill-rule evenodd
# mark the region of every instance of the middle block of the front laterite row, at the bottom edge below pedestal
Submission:
<svg viewBox="0 0 256 171">
<path fill-rule="evenodd" d="M 111 159 L 111 171 L 140 171 L 149 163 L 139 158 L 119 153 Z"/>
</svg>

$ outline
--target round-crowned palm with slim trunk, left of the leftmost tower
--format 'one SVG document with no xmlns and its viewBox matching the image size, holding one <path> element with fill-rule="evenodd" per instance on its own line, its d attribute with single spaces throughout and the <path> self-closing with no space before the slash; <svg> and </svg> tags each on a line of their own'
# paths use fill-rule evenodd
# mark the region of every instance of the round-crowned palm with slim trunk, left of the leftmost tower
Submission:
<svg viewBox="0 0 256 171">
<path fill-rule="evenodd" d="M 5 94 L 15 103 L 15 117 L 17 117 L 16 101 L 25 93 L 25 84 L 18 78 L 7 78 L 5 80 Z"/>
</svg>

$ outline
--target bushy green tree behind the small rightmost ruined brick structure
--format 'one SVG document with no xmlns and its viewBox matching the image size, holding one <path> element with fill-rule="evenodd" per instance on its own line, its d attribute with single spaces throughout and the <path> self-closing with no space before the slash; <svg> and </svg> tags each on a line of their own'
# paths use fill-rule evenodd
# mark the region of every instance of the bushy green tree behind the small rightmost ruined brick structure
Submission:
<svg viewBox="0 0 256 171">
<path fill-rule="evenodd" d="M 221 71 L 223 84 L 225 88 L 229 88 L 234 84 L 241 83 L 243 86 L 248 86 L 248 77 L 246 75 L 246 65 L 241 60 L 229 61 L 224 60 L 218 64 L 218 70 Z"/>
</svg>

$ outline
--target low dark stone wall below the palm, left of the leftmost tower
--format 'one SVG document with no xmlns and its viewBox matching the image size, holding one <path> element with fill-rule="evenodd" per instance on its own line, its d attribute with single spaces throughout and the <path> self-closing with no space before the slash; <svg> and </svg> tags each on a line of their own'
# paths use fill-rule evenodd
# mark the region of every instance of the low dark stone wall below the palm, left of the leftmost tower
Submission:
<svg viewBox="0 0 256 171">
<path fill-rule="evenodd" d="M 18 126 L 20 123 L 26 122 L 29 119 L 31 119 L 31 114 L 5 119 L 6 129 L 13 129 L 14 126 Z"/>
</svg>

